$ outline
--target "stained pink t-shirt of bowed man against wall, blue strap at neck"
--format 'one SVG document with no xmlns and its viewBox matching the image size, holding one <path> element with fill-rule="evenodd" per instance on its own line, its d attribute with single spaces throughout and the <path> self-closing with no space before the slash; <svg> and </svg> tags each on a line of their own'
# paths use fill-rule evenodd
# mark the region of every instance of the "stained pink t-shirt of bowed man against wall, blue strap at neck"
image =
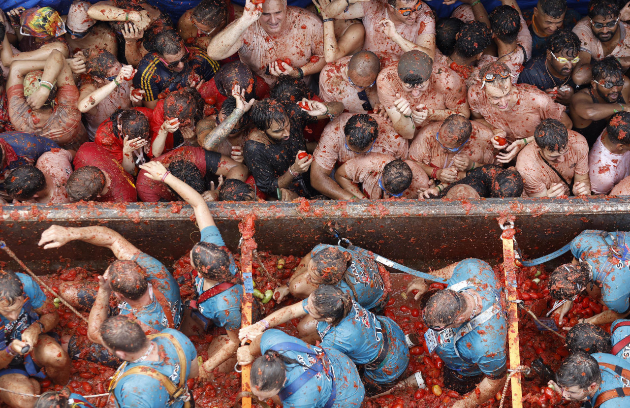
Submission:
<svg viewBox="0 0 630 408">
<path fill-rule="evenodd" d="M 353 183 L 362 183 L 363 193 L 370 200 L 383 198 L 383 190 L 379 186 L 379 179 L 387 163 L 396 158 L 387 154 L 370 153 L 362 157 L 355 157 L 345 164 L 346 174 Z M 420 188 L 428 188 L 429 178 L 427 173 L 411 160 L 406 160 L 411 167 L 413 179 L 411 185 L 404 191 L 401 198 L 418 198 Z"/>
</svg>

